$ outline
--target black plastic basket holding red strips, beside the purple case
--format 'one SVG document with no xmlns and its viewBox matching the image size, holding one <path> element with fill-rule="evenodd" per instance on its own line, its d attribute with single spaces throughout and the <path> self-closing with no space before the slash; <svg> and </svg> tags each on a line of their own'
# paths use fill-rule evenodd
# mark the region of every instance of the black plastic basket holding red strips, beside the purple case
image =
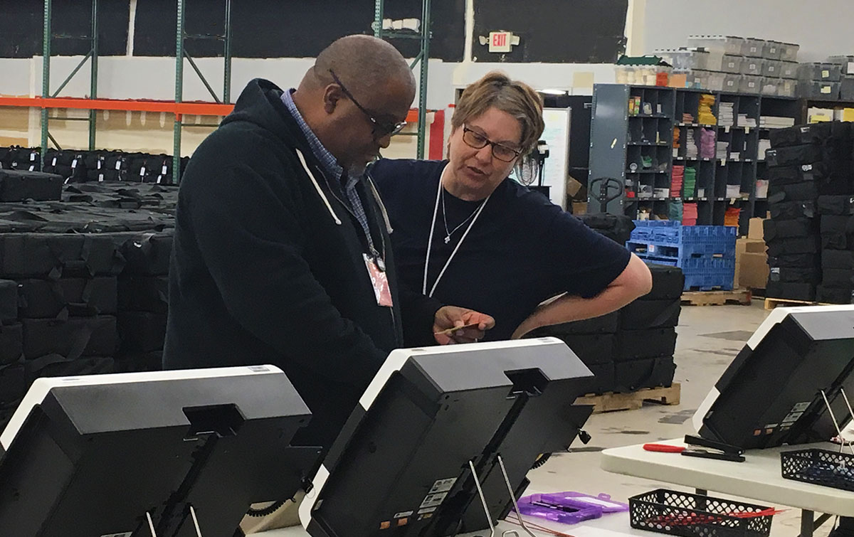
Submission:
<svg viewBox="0 0 854 537">
<path fill-rule="evenodd" d="M 770 507 L 664 488 L 629 498 L 632 528 L 682 537 L 768 537 L 773 516 Z"/>
</svg>

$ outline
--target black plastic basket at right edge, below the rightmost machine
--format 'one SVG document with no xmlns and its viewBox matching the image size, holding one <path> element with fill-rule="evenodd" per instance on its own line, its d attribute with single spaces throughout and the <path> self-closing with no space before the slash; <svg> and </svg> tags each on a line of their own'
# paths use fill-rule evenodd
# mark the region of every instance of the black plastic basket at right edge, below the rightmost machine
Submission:
<svg viewBox="0 0 854 537">
<path fill-rule="evenodd" d="M 854 455 L 815 448 L 781 452 L 780 466 L 786 479 L 854 491 Z"/>
</svg>

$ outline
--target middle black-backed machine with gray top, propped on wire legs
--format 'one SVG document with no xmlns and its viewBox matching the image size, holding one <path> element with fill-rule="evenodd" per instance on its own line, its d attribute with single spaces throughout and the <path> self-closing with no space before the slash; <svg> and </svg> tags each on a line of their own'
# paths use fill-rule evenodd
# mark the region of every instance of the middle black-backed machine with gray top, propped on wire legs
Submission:
<svg viewBox="0 0 854 537">
<path fill-rule="evenodd" d="M 509 494 L 503 478 L 496 480 L 495 454 L 519 488 L 537 455 L 568 447 L 573 426 L 589 415 L 589 408 L 570 409 L 587 385 L 587 367 L 559 340 L 526 341 L 503 350 L 395 351 L 412 354 L 330 451 L 309 533 L 453 534 L 474 502 L 481 522 L 472 515 L 471 525 L 485 527 L 469 461 L 497 515 Z"/>
</svg>

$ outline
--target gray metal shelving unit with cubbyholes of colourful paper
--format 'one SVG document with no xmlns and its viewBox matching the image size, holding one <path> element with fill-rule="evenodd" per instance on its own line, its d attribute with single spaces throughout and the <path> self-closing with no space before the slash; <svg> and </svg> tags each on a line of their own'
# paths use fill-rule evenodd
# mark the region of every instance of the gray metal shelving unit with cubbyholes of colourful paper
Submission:
<svg viewBox="0 0 854 537">
<path fill-rule="evenodd" d="M 711 108 L 714 122 L 701 124 L 698 108 L 704 94 L 715 97 Z M 641 109 L 640 114 L 629 114 L 632 97 L 640 97 L 640 102 L 649 103 L 649 107 Z M 732 104 L 734 125 L 719 125 L 721 102 Z M 670 218 L 674 203 L 688 202 L 697 204 L 698 225 L 723 225 L 727 208 L 739 207 L 739 225 L 746 232 L 748 220 L 755 215 L 764 216 L 768 210 L 767 201 L 756 196 L 757 178 L 766 178 L 763 155 L 758 154 L 759 140 L 769 137 L 769 131 L 759 127 L 759 118 L 775 115 L 799 122 L 801 107 L 798 100 L 786 97 L 658 86 L 595 85 L 588 181 L 617 178 L 625 185 L 623 196 L 607 204 L 607 213 L 636 219 L 640 212 L 648 211 Z M 683 114 L 689 114 L 690 118 Z M 740 114 L 746 114 L 756 126 L 739 125 Z M 729 143 L 724 158 L 687 155 L 687 131 L 693 131 L 696 141 L 704 129 L 714 132 L 716 144 Z M 676 130 L 680 140 L 678 149 L 673 147 Z M 671 186 L 675 165 L 696 170 L 695 188 L 661 194 Z M 736 186 L 738 196 L 734 196 Z M 597 194 L 593 188 L 588 189 L 590 212 L 599 211 Z"/>
</svg>

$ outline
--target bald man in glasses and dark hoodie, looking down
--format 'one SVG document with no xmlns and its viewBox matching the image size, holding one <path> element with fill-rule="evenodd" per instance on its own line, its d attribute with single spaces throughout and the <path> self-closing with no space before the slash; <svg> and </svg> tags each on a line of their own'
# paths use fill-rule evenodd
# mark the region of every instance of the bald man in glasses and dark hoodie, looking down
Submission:
<svg viewBox="0 0 854 537">
<path fill-rule="evenodd" d="M 483 336 L 492 318 L 399 287 L 363 176 L 414 93 L 403 57 L 367 36 L 331 44 L 297 90 L 249 82 L 181 182 L 165 368 L 277 365 L 313 413 L 296 441 L 328 449 L 404 331 Z"/>
</svg>

